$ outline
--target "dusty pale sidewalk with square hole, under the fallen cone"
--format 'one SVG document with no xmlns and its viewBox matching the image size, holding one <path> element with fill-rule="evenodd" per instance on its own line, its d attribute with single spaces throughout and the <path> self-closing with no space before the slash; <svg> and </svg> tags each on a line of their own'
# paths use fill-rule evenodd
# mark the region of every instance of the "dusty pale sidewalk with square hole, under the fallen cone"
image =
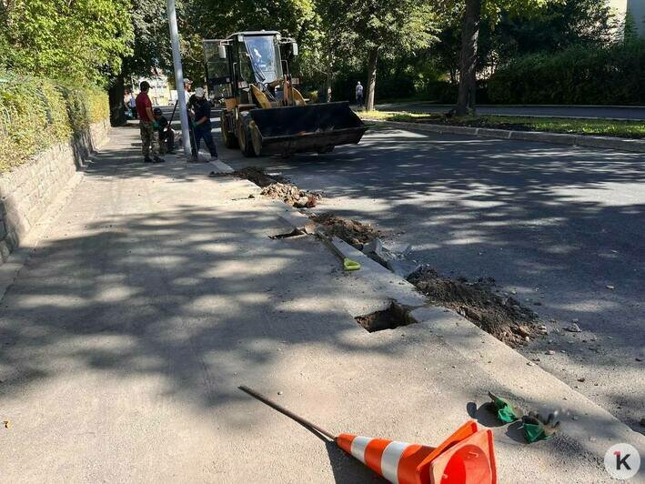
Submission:
<svg viewBox="0 0 645 484">
<path fill-rule="evenodd" d="M 0 480 L 379 481 L 238 385 L 335 432 L 429 445 L 493 423 L 476 411 L 489 389 L 576 406 L 549 442 L 497 427 L 500 482 L 606 481 L 600 449 L 643 449 L 452 313 L 368 333 L 352 316 L 391 299 L 377 267 L 344 274 L 314 237 L 270 239 L 290 227 L 248 182 L 144 165 L 136 129 L 113 135 L 2 300 Z"/>
</svg>

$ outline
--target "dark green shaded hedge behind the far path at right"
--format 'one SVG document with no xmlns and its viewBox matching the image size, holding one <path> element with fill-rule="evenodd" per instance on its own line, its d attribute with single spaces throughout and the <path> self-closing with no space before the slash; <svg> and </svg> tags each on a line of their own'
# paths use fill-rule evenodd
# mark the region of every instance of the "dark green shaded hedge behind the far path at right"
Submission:
<svg viewBox="0 0 645 484">
<path fill-rule="evenodd" d="M 642 105 L 645 40 L 519 57 L 489 79 L 500 104 Z"/>
</svg>

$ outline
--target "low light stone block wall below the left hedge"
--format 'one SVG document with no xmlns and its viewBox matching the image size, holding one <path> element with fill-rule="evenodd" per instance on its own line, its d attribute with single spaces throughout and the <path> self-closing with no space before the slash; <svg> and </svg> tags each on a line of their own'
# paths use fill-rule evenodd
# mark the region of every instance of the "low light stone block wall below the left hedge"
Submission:
<svg viewBox="0 0 645 484">
<path fill-rule="evenodd" d="M 0 176 L 0 264 L 20 246 L 76 171 L 83 169 L 86 157 L 106 142 L 109 128 L 109 119 L 95 123 L 82 136 L 51 146 Z"/>
</svg>

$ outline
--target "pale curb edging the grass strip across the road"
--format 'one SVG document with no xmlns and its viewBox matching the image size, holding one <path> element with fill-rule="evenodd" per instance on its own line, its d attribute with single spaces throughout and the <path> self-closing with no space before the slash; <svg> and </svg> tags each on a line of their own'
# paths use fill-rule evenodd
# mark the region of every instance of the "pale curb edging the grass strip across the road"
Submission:
<svg viewBox="0 0 645 484">
<path fill-rule="evenodd" d="M 369 123 L 380 126 L 414 129 L 430 133 L 450 133 L 454 135 L 483 136 L 499 139 L 519 139 L 524 141 L 538 141 L 540 143 L 555 143 L 569 146 L 590 146 L 598 148 L 616 149 L 634 153 L 645 153 L 645 140 L 628 139 L 609 136 L 567 135 L 564 133 L 549 133 L 543 131 L 509 131 L 506 129 L 490 129 L 484 127 L 428 125 L 400 121 L 382 121 L 366 118 Z"/>
</svg>

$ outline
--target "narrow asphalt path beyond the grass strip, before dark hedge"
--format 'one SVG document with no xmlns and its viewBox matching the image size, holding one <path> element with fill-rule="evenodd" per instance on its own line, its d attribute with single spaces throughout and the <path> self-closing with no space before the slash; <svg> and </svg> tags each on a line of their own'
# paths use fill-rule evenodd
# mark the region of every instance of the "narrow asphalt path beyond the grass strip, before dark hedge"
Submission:
<svg viewBox="0 0 645 484">
<path fill-rule="evenodd" d="M 378 105 L 382 111 L 446 113 L 452 105 L 430 103 L 393 103 Z M 558 116 L 612 119 L 645 119 L 645 106 L 478 106 L 480 115 Z"/>
</svg>

